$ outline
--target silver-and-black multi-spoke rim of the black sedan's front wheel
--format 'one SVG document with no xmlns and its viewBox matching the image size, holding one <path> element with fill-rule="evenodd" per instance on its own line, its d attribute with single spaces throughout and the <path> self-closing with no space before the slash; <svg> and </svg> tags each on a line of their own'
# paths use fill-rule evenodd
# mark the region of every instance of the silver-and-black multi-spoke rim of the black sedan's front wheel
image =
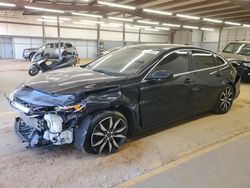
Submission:
<svg viewBox="0 0 250 188">
<path fill-rule="evenodd" d="M 127 124 L 122 118 L 109 116 L 94 128 L 91 134 L 91 146 L 99 154 L 108 154 L 120 148 L 125 142 Z"/>
</svg>

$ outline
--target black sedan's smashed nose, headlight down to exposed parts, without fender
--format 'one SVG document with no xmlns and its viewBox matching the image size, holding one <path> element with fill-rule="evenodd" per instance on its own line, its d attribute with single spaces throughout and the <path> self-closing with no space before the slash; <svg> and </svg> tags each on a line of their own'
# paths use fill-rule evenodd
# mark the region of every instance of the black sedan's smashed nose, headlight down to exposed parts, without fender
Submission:
<svg viewBox="0 0 250 188">
<path fill-rule="evenodd" d="M 20 112 L 15 130 L 28 147 L 71 144 L 85 105 L 71 95 L 52 95 L 32 88 L 15 90 L 9 102 Z"/>
</svg>

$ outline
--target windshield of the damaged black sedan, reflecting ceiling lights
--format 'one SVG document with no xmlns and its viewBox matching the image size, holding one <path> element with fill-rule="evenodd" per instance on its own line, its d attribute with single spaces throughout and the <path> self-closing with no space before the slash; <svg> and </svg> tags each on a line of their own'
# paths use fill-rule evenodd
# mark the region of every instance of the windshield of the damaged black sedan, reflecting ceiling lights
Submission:
<svg viewBox="0 0 250 188">
<path fill-rule="evenodd" d="M 111 75 L 140 73 L 158 55 L 158 50 L 122 48 L 90 63 L 86 68 Z"/>
</svg>

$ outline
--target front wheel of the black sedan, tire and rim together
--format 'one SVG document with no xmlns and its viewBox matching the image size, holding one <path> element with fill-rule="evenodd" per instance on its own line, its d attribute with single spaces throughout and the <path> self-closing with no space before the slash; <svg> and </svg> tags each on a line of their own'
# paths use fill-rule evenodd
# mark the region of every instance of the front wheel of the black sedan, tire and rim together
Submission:
<svg viewBox="0 0 250 188">
<path fill-rule="evenodd" d="M 103 111 L 94 115 L 84 150 L 93 154 L 115 153 L 126 141 L 127 119 L 120 112 Z"/>
</svg>

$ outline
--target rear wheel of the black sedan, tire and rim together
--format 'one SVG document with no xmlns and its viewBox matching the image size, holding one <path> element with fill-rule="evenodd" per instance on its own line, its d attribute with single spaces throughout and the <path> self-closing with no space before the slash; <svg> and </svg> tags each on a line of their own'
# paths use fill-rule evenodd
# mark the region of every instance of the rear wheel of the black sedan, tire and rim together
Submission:
<svg viewBox="0 0 250 188">
<path fill-rule="evenodd" d="M 234 95 L 234 88 L 229 84 L 225 85 L 217 100 L 214 112 L 217 114 L 227 113 L 233 104 Z"/>
</svg>

